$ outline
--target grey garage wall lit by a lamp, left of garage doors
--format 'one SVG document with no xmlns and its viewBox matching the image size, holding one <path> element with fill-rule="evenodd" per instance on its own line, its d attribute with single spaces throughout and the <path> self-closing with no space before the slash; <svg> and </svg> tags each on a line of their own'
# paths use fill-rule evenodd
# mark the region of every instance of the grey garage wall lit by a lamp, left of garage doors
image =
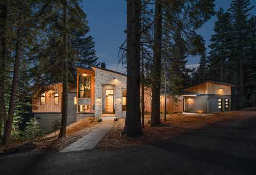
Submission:
<svg viewBox="0 0 256 175">
<path fill-rule="evenodd" d="M 197 110 L 203 110 L 207 112 L 207 96 L 191 96 L 185 97 L 184 111 L 185 112 L 197 112 Z"/>
</svg>

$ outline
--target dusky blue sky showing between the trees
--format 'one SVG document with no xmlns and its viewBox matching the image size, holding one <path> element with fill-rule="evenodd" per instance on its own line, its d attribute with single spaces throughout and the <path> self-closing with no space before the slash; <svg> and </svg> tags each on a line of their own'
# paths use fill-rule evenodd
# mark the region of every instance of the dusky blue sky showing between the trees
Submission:
<svg viewBox="0 0 256 175">
<path fill-rule="evenodd" d="M 251 5 L 256 6 L 256 1 L 250 0 Z M 224 10 L 230 7 L 231 0 L 216 0 L 215 9 L 220 7 Z M 95 49 L 99 61 L 106 63 L 106 68 L 124 72 L 122 65 L 117 67 L 118 47 L 125 40 L 124 30 L 126 28 L 126 0 L 83 0 L 83 10 L 87 14 L 90 32 L 95 41 Z M 251 14 L 256 15 L 255 8 Z M 210 44 L 210 37 L 213 34 L 213 16 L 206 22 L 197 33 L 204 37 L 206 47 Z M 188 58 L 188 65 L 198 64 L 199 57 Z"/>
</svg>

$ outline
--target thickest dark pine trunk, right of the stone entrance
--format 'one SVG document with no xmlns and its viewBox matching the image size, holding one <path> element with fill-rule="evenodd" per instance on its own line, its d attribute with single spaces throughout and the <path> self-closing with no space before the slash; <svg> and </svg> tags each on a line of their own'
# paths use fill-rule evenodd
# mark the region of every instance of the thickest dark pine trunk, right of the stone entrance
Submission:
<svg viewBox="0 0 256 175">
<path fill-rule="evenodd" d="M 127 0 L 127 111 L 123 133 L 142 134 L 140 121 L 140 2 Z"/>
</svg>

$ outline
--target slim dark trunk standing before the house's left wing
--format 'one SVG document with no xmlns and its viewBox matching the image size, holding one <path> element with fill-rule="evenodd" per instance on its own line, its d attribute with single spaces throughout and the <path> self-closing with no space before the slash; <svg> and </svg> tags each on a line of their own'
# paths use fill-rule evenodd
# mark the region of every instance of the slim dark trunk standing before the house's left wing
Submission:
<svg viewBox="0 0 256 175">
<path fill-rule="evenodd" d="M 63 26 L 66 29 L 66 0 L 63 2 Z M 63 95 L 62 95 L 62 118 L 59 138 L 65 137 L 68 118 L 68 58 L 66 31 L 63 33 Z"/>
</svg>

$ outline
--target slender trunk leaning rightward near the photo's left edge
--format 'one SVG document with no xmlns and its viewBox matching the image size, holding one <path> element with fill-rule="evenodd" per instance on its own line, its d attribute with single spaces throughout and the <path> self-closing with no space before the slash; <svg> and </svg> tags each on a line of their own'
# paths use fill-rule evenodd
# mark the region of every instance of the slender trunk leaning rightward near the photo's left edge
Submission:
<svg viewBox="0 0 256 175">
<path fill-rule="evenodd" d="M 11 137 L 12 130 L 12 122 L 14 117 L 16 98 L 17 98 L 17 90 L 18 90 L 18 77 L 19 77 L 19 66 L 20 66 L 20 58 L 22 56 L 22 44 L 21 44 L 21 34 L 22 34 L 22 26 L 23 21 L 21 17 L 21 12 L 19 12 L 19 27 L 17 30 L 17 41 L 16 41 L 16 56 L 15 56 L 15 65 L 12 79 L 12 90 L 11 90 L 11 99 L 9 103 L 8 110 L 8 118 L 6 121 L 6 127 L 4 130 L 4 141 L 3 144 L 8 144 Z"/>
</svg>

